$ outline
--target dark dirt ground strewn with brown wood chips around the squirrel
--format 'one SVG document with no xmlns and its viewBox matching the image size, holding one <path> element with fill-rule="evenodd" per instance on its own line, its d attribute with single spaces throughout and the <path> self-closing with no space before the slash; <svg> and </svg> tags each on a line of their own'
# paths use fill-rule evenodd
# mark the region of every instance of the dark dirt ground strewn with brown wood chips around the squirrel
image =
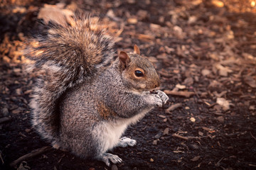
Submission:
<svg viewBox="0 0 256 170">
<path fill-rule="evenodd" d="M 51 148 L 22 157 L 49 146 L 31 128 L 22 52 L 47 8 L 100 17 L 116 50 L 139 45 L 161 76 L 170 99 L 125 132 L 137 145 L 112 150 L 122 164 Z M 255 1 L 4 0 L 0 38 L 0 169 L 256 169 Z"/>
</svg>

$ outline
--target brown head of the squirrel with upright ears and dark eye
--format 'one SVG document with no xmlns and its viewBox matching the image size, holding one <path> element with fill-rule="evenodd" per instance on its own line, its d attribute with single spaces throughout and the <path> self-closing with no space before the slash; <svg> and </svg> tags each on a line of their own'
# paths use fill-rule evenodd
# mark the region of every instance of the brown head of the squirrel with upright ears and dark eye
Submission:
<svg viewBox="0 0 256 170">
<path fill-rule="evenodd" d="M 160 86 L 159 75 L 153 64 L 140 56 L 139 47 L 134 45 L 134 52 L 119 52 L 122 78 L 129 88 L 136 91 L 149 91 Z"/>
</svg>

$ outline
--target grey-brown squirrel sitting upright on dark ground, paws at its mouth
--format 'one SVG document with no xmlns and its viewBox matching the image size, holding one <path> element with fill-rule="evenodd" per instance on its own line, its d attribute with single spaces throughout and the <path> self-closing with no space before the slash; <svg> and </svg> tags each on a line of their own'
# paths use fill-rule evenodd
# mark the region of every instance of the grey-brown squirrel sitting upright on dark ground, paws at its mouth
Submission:
<svg viewBox="0 0 256 170">
<path fill-rule="evenodd" d="M 65 24 L 63 24 L 65 23 Z M 114 147 L 136 145 L 124 130 L 169 97 L 152 90 L 160 85 L 153 64 L 134 52 L 115 55 L 114 40 L 90 16 L 48 23 L 46 35 L 28 47 L 33 88 L 33 128 L 54 148 L 83 159 L 117 164 Z"/>
</svg>

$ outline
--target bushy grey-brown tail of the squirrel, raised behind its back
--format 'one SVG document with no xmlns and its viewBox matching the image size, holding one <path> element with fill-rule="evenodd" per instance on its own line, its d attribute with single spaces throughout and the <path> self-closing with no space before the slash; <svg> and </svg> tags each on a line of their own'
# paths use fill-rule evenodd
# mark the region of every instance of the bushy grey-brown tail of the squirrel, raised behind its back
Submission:
<svg viewBox="0 0 256 170">
<path fill-rule="evenodd" d="M 50 23 L 47 35 L 31 42 L 26 55 L 34 61 L 31 72 L 40 74 L 31 101 L 32 123 L 52 145 L 58 145 L 62 94 L 90 81 L 115 60 L 114 42 L 98 21 L 80 14 L 63 23 Z"/>
</svg>

